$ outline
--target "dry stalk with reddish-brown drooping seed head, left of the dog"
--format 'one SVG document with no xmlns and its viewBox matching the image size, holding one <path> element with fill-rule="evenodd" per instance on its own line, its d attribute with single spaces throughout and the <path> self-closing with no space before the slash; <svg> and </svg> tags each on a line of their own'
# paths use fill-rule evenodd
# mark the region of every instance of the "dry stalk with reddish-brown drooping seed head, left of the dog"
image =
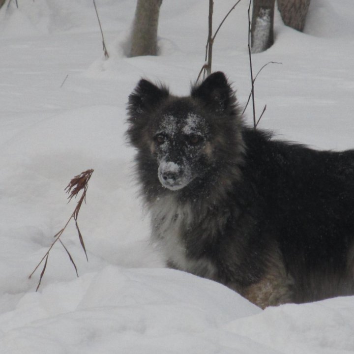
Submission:
<svg viewBox="0 0 354 354">
<path fill-rule="evenodd" d="M 34 272 L 38 269 L 38 267 L 44 261 L 44 266 L 43 266 L 43 269 L 42 269 L 40 277 L 39 277 L 39 282 L 38 282 L 36 291 L 39 289 L 39 286 L 41 284 L 44 272 L 46 270 L 49 252 L 51 251 L 51 249 L 53 248 L 53 246 L 56 244 L 57 241 L 59 241 L 61 243 L 61 245 L 63 246 L 63 248 L 65 249 L 67 255 L 69 256 L 70 262 L 72 263 L 72 265 L 75 268 L 76 275 L 79 276 L 78 275 L 78 271 L 77 271 L 77 267 L 75 265 L 75 262 L 74 262 L 74 260 L 73 260 L 73 258 L 71 256 L 70 252 L 68 251 L 68 249 L 65 247 L 65 245 L 63 244 L 63 242 L 60 239 L 60 236 L 65 231 L 65 229 L 68 226 L 68 224 L 71 221 L 71 219 L 74 219 L 74 221 L 75 221 L 75 226 L 76 226 L 76 230 L 77 230 L 78 235 L 79 235 L 80 244 L 81 244 L 81 246 L 82 246 L 82 248 L 83 248 L 83 250 L 85 252 L 86 259 L 89 260 L 87 252 L 86 252 L 84 239 L 83 239 L 83 236 L 82 236 L 82 234 L 80 232 L 79 225 L 77 223 L 77 219 L 78 219 L 79 211 L 80 211 L 80 208 L 81 208 L 83 202 L 86 202 L 86 192 L 87 192 L 87 190 L 89 188 L 89 184 L 88 183 L 89 183 L 89 179 L 91 178 L 92 173 L 93 173 L 93 170 L 87 170 L 87 171 L 82 172 L 80 175 L 75 176 L 74 178 L 72 178 L 70 183 L 65 188 L 66 193 L 69 194 L 69 197 L 68 197 L 69 202 L 71 201 L 72 198 L 74 198 L 74 197 L 76 198 L 81 191 L 82 191 L 82 195 L 81 195 L 79 201 L 77 202 L 73 213 L 69 217 L 69 220 L 66 222 L 65 226 L 54 236 L 55 240 L 50 245 L 48 251 L 45 253 L 43 258 L 40 260 L 40 262 L 34 268 L 32 273 L 29 275 L 29 279 L 30 279 L 32 277 L 32 275 L 34 274 Z"/>
</svg>

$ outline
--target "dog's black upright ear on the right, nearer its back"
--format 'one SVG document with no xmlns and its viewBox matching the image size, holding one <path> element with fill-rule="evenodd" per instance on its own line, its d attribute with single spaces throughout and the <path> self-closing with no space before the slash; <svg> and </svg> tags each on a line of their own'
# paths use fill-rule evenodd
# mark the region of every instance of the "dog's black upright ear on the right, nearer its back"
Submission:
<svg viewBox="0 0 354 354">
<path fill-rule="evenodd" d="M 208 108 L 218 111 L 232 108 L 236 101 L 234 91 L 221 71 L 210 74 L 201 85 L 194 86 L 191 95 L 200 99 Z"/>
</svg>

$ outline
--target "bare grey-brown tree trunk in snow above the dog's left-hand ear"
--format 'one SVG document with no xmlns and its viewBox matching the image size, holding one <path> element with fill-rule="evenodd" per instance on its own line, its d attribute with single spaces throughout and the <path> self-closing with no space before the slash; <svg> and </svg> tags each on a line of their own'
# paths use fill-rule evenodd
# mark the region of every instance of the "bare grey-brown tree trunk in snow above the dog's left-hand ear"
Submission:
<svg viewBox="0 0 354 354">
<path fill-rule="evenodd" d="M 138 0 L 130 57 L 157 55 L 157 26 L 162 0 Z"/>
</svg>

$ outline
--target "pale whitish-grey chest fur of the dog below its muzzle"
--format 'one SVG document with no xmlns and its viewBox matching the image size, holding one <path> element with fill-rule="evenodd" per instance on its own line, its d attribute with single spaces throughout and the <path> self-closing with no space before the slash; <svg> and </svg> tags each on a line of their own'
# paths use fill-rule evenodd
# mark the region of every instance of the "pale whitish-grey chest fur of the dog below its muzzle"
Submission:
<svg viewBox="0 0 354 354">
<path fill-rule="evenodd" d="M 169 266 L 209 279 L 215 279 L 216 268 L 206 257 L 190 257 L 185 235 L 193 227 L 191 205 L 178 203 L 174 195 L 165 195 L 151 205 L 151 238 L 168 260 Z M 197 245 L 196 245 L 197 246 Z"/>
</svg>

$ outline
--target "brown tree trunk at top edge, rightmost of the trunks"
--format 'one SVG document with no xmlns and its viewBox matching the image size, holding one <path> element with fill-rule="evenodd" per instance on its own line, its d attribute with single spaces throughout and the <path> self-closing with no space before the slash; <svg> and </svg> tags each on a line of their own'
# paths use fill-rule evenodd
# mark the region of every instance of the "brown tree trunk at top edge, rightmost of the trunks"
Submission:
<svg viewBox="0 0 354 354">
<path fill-rule="evenodd" d="M 303 31 L 310 0 L 278 0 L 278 9 L 286 26 Z"/>
</svg>

